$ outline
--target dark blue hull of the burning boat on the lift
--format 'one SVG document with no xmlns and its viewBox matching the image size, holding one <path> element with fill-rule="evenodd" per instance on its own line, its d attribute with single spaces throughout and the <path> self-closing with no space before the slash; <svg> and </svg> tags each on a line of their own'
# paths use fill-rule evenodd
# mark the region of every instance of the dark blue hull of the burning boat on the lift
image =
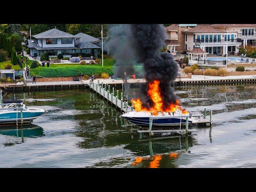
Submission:
<svg viewBox="0 0 256 192">
<path fill-rule="evenodd" d="M 149 126 L 149 117 L 140 117 L 140 118 L 131 118 L 131 117 L 124 117 L 133 124 L 136 124 L 138 126 L 142 127 L 148 127 Z M 188 121 L 188 123 L 192 123 L 192 121 Z M 175 126 L 180 124 L 180 118 L 159 118 L 159 119 L 153 119 L 152 125 L 153 126 Z M 181 124 L 186 124 L 186 120 L 182 119 Z"/>
</svg>

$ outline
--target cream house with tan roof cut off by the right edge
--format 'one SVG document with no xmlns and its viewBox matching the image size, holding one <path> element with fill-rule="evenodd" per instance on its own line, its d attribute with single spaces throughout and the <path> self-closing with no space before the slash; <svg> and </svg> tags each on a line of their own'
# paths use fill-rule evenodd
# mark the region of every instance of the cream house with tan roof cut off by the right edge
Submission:
<svg viewBox="0 0 256 192">
<path fill-rule="evenodd" d="M 212 27 L 228 32 L 237 32 L 241 46 L 256 47 L 256 24 L 211 24 Z"/>
</svg>

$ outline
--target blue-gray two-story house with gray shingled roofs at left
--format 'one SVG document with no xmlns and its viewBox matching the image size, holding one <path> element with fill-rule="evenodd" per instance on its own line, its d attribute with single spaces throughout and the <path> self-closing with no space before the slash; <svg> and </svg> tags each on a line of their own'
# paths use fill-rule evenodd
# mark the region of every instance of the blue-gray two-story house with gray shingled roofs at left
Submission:
<svg viewBox="0 0 256 192">
<path fill-rule="evenodd" d="M 84 33 L 72 35 L 58 29 L 51 29 L 40 34 L 33 35 L 34 40 L 28 40 L 30 55 L 37 57 L 43 53 L 48 56 L 56 57 L 62 54 L 64 57 L 70 57 L 73 53 L 78 53 L 82 57 L 98 57 L 100 39 Z"/>
</svg>

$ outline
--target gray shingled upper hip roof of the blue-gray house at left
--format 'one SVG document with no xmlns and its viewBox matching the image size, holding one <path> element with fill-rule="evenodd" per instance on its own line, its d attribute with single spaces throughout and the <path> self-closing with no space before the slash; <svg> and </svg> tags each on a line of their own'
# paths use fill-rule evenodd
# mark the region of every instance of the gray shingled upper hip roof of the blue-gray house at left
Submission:
<svg viewBox="0 0 256 192">
<path fill-rule="evenodd" d="M 35 37 L 37 39 L 39 38 L 75 38 L 74 35 L 55 29 L 55 28 L 33 35 L 32 37 Z M 79 38 L 79 36 L 77 36 L 77 38 Z"/>
</svg>

